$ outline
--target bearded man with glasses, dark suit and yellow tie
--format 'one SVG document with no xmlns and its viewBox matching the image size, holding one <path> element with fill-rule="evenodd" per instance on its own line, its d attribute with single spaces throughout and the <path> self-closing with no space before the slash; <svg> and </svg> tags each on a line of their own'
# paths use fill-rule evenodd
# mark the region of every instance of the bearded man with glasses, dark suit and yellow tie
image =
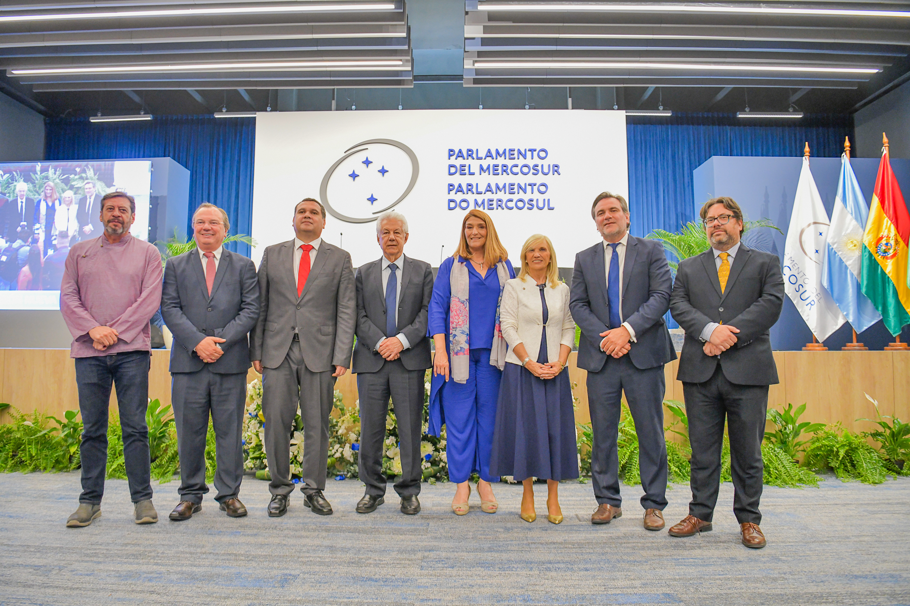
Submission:
<svg viewBox="0 0 910 606">
<path fill-rule="evenodd" d="M 702 206 L 711 248 L 680 263 L 670 299 L 673 319 L 685 329 L 679 372 L 689 442 L 692 502 L 670 534 L 712 530 L 721 479 L 723 422 L 730 435 L 733 512 L 743 545 L 762 548 L 762 440 L 768 385 L 777 380 L 768 331 L 784 305 L 777 255 L 740 243 L 743 211 L 733 198 Z"/>
</svg>

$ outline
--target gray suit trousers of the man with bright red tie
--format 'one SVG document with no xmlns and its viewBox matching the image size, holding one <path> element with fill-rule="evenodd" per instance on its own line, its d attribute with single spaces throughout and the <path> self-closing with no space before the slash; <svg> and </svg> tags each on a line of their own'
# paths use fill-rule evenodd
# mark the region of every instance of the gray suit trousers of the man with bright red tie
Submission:
<svg viewBox="0 0 910 606">
<path fill-rule="evenodd" d="M 332 371 L 313 373 L 303 362 L 299 341 L 292 341 L 278 368 L 264 368 L 262 414 L 266 417 L 266 459 L 272 481 L 268 491 L 288 495 L 290 481 L 290 436 L 294 416 L 300 409 L 303 419 L 303 485 L 300 491 L 312 494 L 326 488 L 329 462 L 329 414 L 332 412 L 335 377 Z"/>
</svg>

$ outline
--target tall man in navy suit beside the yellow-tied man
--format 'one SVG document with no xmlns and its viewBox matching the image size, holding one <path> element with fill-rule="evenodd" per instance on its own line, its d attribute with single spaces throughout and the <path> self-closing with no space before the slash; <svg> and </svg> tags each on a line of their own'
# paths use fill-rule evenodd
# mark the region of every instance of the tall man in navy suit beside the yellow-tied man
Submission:
<svg viewBox="0 0 910 606">
<path fill-rule="evenodd" d="M 663 528 L 667 445 L 663 440 L 663 365 L 676 358 L 663 314 L 672 278 L 661 243 L 629 234 L 629 204 L 619 194 L 594 199 L 602 242 L 575 255 L 569 307 L 581 327 L 578 365 L 588 371 L 591 480 L 598 507 L 592 524 L 622 515 L 617 440 L 622 392 L 635 421 L 644 527 Z"/>
</svg>

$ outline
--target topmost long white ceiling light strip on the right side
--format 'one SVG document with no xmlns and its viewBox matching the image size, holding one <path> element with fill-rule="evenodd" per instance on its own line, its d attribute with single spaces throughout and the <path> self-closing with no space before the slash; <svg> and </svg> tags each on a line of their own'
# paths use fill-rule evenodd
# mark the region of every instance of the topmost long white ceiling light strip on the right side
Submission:
<svg viewBox="0 0 910 606">
<path fill-rule="evenodd" d="M 691 13 L 758 13 L 763 15 L 830 15 L 866 17 L 910 17 L 907 11 L 864 11 L 837 8 L 773 8 L 771 6 L 719 5 L 501 5 L 479 4 L 480 11 L 583 11 L 583 12 L 691 12 Z"/>
</svg>

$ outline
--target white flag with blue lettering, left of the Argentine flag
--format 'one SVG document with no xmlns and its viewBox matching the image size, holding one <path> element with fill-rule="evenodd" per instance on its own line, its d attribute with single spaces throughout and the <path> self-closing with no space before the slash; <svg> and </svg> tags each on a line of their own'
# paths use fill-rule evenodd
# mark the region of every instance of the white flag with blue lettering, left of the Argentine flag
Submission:
<svg viewBox="0 0 910 606">
<path fill-rule="evenodd" d="M 847 321 L 822 285 L 828 226 L 828 214 L 805 157 L 784 246 L 784 291 L 820 342 Z"/>
</svg>

